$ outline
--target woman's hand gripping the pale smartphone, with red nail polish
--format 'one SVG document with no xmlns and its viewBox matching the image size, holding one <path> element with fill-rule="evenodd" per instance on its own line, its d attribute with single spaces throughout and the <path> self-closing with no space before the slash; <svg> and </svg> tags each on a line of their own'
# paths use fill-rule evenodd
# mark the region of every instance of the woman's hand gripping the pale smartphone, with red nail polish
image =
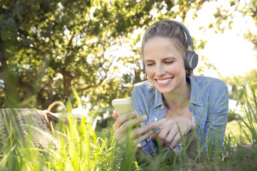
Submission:
<svg viewBox="0 0 257 171">
<path fill-rule="evenodd" d="M 140 127 L 140 123 L 146 121 L 146 115 L 137 117 L 137 113 L 133 111 L 117 117 L 117 112 L 114 111 L 113 116 L 116 118 L 113 124 L 113 130 L 115 130 L 113 136 L 119 143 L 126 142 L 126 134 L 130 128 L 132 130 L 129 132 L 129 139 L 133 141 L 133 143 L 141 143 L 153 133 L 147 128 Z"/>
</svg>

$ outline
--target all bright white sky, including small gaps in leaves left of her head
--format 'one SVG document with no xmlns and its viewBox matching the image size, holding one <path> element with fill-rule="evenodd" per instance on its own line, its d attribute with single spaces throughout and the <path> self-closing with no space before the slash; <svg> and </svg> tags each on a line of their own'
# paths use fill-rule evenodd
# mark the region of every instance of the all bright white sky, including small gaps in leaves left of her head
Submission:
<svg viewBox="0 0 257 171">
<path fill-rule="evenodd" d="M 245 5 L 245 1 L 240 1 L 238 9 Z M 216 23 L 213 14 L 216 13 L 218 6 L 229 10 L 234 16 L 231 29 L 228 28 L 226 22 L 223 24 L 226 28 L 223 33 L 220 32 L 220 30 L 217 30 L 218 33 L 216 33 L 216 28 L 208 28 L 211 22 Z M 174 6 L 171 10 L 176 11 L 179 10 L 179 8 L 178 6 Z M 200 57 L 198 68 L 204 65 L 201 61 L 201 56 L 207 57 L 210 63 L 213 64 L 223 76 L 233 77 L 234 75 L 244 74 L 247 70 L 257 68 L 257 52 L 254 50 L 254 43 L 247 41 L 243 37 L 244 33 L 248 32 L 248 30 L 251 30 L 253 34 L 257 34 L 257 27 L 252 17 L 243 17 L 240 12 L 234 11 L 234 9 L 230 7 L 229 1 L 223 0 L 205 2 L 202 9 L 196 12 L 198 17 L 191 19 L 195 10 L 196 9 L 192 8 L 187 12 L 184 25 L 187 26 L 191 37 L 196 39 L 195 44 L 199 44 L 200 39 L 207 41 L 203 50 L 196 50 Z M 165 10 L 162 11 L 162 13 L 165 12 Z M 157 14 L 157 10 L 151 11 L 151 14 Z M 174 20 L 181 21 L 182 19 L 177 17 Z M 200 30 L 200 27 L 205 28 L 205 30 Z M 135 30 L 133 37 L 137 37 L 139 32 L 144 32 L 144 30 L 142 30 L 142 28 Z M 136 46 L 140 47 L 140 45 L 141 41 L 138 42 Z M 111 53 L 113 53 L 115 57 L 131 57 L 135 55 L 128 43 L 124 43 L 121 48 L 115 49 Z M 123 66 L 124 63 L 119 61 L 118 65 Z M 133 66 L 131 66 L 131 68 L 133 68 Z M 122 68 L 122 72 L 130 72 L 131 68 Z M 115 77 L 119 76 L 119 74 L 122 75 L 122 72 L 117 73 Z M 204 75 L 218 78 L 218 73 L 213 70 L 204 70 Z"/>
</svg>

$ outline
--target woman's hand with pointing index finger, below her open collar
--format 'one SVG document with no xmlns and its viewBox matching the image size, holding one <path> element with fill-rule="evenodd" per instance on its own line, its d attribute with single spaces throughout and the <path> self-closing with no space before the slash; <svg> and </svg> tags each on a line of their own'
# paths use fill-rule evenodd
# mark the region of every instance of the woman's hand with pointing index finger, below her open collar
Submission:
<svg viewBox="0 0 257 171">
<path fill-rule="evenodd" d="M 151 128 L 160 128 L 156 133 L 162 145 L 173 148 L 181 141 L 182 137 L 196 128 L 195 123 L 187 117 L 163 118 L 160 121 L 149 123 L 149 125 Z M 180 133 L 182 137 L 180 137 Z M 155 139 L 154 134 L 151 139 Z"/>
</svg>

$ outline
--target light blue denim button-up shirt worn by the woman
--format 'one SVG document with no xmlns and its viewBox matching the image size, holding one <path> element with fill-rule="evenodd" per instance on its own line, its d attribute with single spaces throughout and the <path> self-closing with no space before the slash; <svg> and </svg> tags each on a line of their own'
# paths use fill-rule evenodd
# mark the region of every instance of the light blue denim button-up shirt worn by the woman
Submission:
<svg viewBox="0 0 257 171">
<path fill-rule="evenodd" d="M 200 145 L 206 150 L 207 139 L 211 145 L 222 141 L 227 125 L 229 96 L 226 84 L 220 79 L 211 77 L 190 77 L 191 96 L 189 111 L 197 125 L 196 133 Z M 162 93 L 155 89 L 150 81 L 135 83 L 131 95 L 137 115 L 146 114 L 148 119 L 142 123 L 146 125 L 159 121 L 164 117 L 165 106 Z M 156 130 L 157 131 L 157 130 Z M 141 143 L 144 152 L 157 152 L 157 142 L 146 139 Z M 173 151 L 180 152 L 181 144 Z"/>
</svg>

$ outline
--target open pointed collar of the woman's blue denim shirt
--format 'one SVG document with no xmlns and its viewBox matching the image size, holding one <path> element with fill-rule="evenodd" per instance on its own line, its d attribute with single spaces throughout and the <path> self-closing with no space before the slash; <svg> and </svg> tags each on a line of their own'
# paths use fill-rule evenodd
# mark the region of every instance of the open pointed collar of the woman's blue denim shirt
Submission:
<svg viewBox="0 0 257 171">
<path fill-rule="evenodd" d="M 194 79 L 193 77 L 189 77 L 190 78 L 190 85 L 191 85 L 191 92 L 190 92 L 190 103 L 196 104 L 196 105 L 202 105 L 202 99 L 200 97 L 200 89 L 198 86 L 198 83 L 196 82 L 196 79 Z M 156 91 L 155 89 L 155 103 L 154 103 L 154 108 L 157 108 L 160 105 L 164 105 L 163 104 L 163 100 L 162 100 L 162 93 L 159 92 L 158 90 Z"/>
</svg>

